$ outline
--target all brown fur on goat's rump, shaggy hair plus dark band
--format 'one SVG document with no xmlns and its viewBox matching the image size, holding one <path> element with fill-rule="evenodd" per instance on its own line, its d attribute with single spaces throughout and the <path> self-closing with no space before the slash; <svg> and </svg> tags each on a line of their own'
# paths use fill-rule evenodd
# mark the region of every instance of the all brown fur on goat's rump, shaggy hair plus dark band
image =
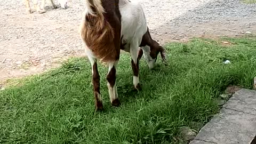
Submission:
<svg viewBox="0 0 256 144">
<path fill-rule="evenodd" d="M 103 62 L 116 61 L 120 54 L 121 35 L 118 1 L 102 0 L 105 13 L 98 11 L 93 1 L 89 2 L 94 14 L 85 15 L 80 31 L 81 37 L 95 57 Z"/>
</svg>

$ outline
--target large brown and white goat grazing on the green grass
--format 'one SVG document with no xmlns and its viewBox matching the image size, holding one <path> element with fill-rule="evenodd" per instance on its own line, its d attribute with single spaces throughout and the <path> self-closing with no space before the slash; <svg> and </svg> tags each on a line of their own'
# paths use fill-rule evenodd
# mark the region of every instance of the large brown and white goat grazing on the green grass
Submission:
<svg viewBox="0 0 256 144">
<path fill-rule="evenodd" d="M 165 50 L 151 38 L 145 14 L 138 2 L 130 0 L 86 0 L 85 2 L 80 34 L 92 66 L 95 108 L 102 109 L 97 59 L 109 66 L 107 86 L 110 102 L 113 106 L 119 106 L 116 69 L 120 51 L 124 50 L 131 54 L 133 85 L 135 89 L 139 89 L 139 60 L 142 54 L 151 69 L 159 52 L 165 60 Z"/>
</svg>

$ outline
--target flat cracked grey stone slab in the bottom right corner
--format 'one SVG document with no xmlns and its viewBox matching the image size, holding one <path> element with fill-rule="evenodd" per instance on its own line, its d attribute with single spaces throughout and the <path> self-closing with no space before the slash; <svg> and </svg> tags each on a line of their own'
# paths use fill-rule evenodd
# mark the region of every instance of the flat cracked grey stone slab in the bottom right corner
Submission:
<svg viewBox="0 0 256 144">
<path fill-rule="evenodd" d="M 256 135 L 256 91 L 241 89 L 190 144 L 250 144 Z"/>
</svg>

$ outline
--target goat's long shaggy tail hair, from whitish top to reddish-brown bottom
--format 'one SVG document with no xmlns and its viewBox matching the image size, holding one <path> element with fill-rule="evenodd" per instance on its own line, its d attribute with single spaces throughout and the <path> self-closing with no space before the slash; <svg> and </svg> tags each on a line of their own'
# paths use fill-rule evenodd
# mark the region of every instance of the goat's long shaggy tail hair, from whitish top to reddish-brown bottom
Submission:
<svg viewBox="0 0 256 144">
<path fill-rule="evenodd" d="M 115 61 L 119 53 L 114 45 L 114 30 L 104 18 L 101 0 L 86 0 L 80 34 L 95 57 L 104 62 Z M 116 54 L 115 54 L 116 53 Z"/>
</svg>

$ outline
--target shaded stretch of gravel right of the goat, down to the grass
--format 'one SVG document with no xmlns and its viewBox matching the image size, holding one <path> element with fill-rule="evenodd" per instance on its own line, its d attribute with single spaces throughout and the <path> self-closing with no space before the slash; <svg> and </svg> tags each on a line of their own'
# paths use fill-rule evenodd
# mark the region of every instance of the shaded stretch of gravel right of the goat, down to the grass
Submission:
<svg viewBox="0 0 256 144">
<path fill-rule="evenodd" d="M 193 36 L 239 36 L 256 31 L 256 4 L 209 1 L 152 30 L 163 42 Z"/>
</svg>

